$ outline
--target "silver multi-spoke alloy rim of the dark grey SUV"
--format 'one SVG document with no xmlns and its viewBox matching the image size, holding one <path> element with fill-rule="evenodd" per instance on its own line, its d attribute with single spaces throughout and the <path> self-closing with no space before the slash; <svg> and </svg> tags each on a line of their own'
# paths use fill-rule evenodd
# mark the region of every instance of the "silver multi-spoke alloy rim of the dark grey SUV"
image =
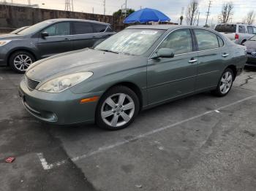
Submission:
<svg viewBox="0 0 256 191">
<path fill-rule="evenodd" d="M 33 61 L 29 55 L 17 55 L 15 56 L 13 63 L 15 68 L 19 71 L 26 71 Z"/>
</svg>

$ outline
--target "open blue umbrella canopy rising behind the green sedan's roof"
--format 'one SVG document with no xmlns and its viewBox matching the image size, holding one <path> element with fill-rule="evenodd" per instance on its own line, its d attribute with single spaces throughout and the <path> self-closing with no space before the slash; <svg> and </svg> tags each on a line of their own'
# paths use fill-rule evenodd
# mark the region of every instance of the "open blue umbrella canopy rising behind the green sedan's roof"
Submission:
<svg viewBox="0 0 256 191">
<path fill-rule="evenodd" d="M 125 18 L 124 23 L 167 22 L 170 18 L 157 9 L 140 9 Z"/>
</svg>

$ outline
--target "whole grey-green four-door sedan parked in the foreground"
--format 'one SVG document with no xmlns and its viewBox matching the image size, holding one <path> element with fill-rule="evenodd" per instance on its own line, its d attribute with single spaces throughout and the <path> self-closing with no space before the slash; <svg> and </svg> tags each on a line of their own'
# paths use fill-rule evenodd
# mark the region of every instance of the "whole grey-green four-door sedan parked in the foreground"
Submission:
<svg viewBox="0 0 256 191">
<path fill-rule="evenodd" d="M 31 65 L 19 85 L 26 110 L 56 125 L 96 122 L 118 130 L 138 113 L 211 91 L 224 96 L 246 63 L 246 47 L 217 31 L 130 26 L 93 49 Z"/>
</svg>

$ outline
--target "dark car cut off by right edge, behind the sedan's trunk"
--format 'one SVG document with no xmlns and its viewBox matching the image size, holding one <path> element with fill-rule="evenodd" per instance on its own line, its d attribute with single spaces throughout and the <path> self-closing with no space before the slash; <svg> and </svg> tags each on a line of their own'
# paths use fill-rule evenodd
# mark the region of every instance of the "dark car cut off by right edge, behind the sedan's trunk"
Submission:
<svg viewBox="0 0 256 191">
<path fill-rule="evenodd" d="M 256 66 L 256 36 L 244 42 L 247 48 L 247 62 L 246 66 Z"/>
</svg>

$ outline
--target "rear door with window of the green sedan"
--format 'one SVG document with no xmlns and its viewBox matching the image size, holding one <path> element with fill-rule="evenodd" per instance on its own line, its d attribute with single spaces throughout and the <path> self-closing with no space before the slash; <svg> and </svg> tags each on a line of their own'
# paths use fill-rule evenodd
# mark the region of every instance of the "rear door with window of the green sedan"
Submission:
<svg viewBox="0 0 256 191">
<path fill-rule="evenodd" d="M 223 59 L 229 58 L 228 49 L 222 48 L 223 41 L 217 34 L 204 29 L 193 29 L 197 40 L 197 78 L 196 90 L 216 87 L 224 67 Z"/>
</svg>

